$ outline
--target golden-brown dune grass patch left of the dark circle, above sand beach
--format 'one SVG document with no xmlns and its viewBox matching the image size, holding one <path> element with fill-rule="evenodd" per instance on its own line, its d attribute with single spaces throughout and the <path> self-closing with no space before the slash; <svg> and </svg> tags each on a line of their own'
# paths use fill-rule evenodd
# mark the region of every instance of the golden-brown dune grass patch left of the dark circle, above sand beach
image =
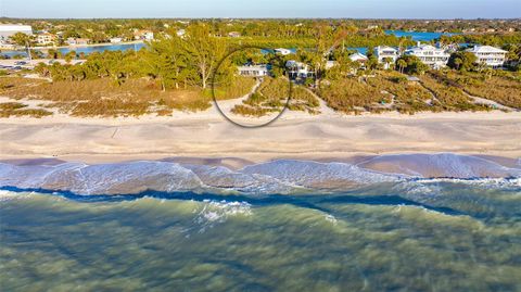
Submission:
<svg viewBox="0 0 521 292">
<path fill-rule="evenodd" d="M 116 85 L 110 79 L 55 81 L 0 78 L 0 96 L 13 99 L 54 101 L 53 106 L 74 116 L 169 115 L 171 111 L 202 111 L 211 106 L 211 98 L 201 90 L 162 91 L 144 78 Z"/>
</svg>

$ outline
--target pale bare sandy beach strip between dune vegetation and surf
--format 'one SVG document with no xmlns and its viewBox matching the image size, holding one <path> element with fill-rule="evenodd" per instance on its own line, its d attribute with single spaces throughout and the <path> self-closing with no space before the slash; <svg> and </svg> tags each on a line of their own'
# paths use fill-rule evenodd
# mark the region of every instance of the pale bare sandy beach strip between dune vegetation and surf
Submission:
<svg viewBox="0 0 521 292">
<path fill-rule="evenodd" d="M 402 153 L 521 157 L 521 113 L 422 113 L 350 116 L 284 113 L 268 127 L 244 129 L 215 107 L 171 117 L 0 119 L 0 160 L 53 157 L 86 163 L 223 158 L 354 160 Z"/>
</svg>

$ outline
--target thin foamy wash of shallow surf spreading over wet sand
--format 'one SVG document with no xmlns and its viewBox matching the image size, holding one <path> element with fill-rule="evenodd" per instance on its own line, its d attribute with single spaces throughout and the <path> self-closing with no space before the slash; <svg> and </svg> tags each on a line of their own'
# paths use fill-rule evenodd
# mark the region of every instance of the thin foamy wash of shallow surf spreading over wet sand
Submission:
<svg viewBox="0 0 521 292">
<path fill-rule="evenodd" d="M 0 163 L 0 188 L 69 191 L 82 195 L 144 191 L 288 194 L 345 191 L 389 182 L 405 192 L 435 193 L 436 183 L 443 181 L 483 188 L 520 188 L 521 169 L 449 153 L 383 155 L 357 165 L 279 160 L 238 170 L 157 161 L 99 165 Z"/>
</svg>

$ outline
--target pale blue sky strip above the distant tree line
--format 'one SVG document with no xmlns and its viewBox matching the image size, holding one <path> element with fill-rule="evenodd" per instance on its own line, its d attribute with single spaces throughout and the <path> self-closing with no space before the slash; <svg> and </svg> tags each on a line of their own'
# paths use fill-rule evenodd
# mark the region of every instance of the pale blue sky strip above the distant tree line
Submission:
<svg viewBox="0 0 521 292">
<path fill-rule="evenodd" d="M 0 16 L 518 18 L 521 0 L 0 0 Z"/>
</svg>

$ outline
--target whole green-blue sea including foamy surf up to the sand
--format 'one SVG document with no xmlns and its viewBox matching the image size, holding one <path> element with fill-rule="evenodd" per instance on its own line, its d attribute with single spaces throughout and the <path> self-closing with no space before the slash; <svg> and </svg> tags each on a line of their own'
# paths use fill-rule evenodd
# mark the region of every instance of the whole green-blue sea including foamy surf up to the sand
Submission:
<svg viewBox="0 0 521 292">
<path fill-rule="evenodd" d="M 0 164 L 0 287 L 521 290 L 519 165 L 410 158 Z"/>
</svg>

